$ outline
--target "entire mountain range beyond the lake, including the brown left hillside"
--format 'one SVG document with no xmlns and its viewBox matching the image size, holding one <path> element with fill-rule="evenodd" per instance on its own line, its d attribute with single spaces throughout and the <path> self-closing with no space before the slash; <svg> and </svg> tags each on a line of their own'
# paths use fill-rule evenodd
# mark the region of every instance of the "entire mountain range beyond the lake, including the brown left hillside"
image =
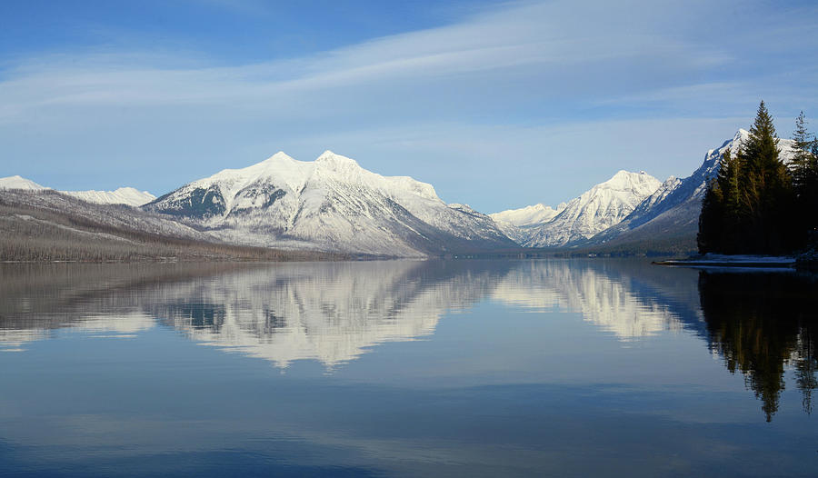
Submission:
<svg viewBox="0 0 818 478">
<path fill-rule="evenodd" d="M 376 174 L 331 151 L 311 162 L 279 152 L 160 197 L 132 187 L 54 191 L 8 176 L 0 178 L 0 260 L 686 253 L 706 184 L 747 135 L 739 130 L 708 151 L 684 178 L 619 171 L 555 207 L 494 214 L 446 204 L 431 184 Z M 784 161 L 792 143 L 780 141 Z"/>
</svg>

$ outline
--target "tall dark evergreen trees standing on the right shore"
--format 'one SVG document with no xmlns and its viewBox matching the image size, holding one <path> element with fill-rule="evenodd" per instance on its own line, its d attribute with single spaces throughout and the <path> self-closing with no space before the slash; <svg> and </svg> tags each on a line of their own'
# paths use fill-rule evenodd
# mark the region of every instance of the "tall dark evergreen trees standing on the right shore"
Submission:
<svg viewBox="0 0 818 478">
<path fill-rule="evenodd" d="M 818 142 L 803 113 L 793 140 L 793 162 L 784 164 L 773 117 L 761 102 L 748 141 L 724 153 L 704 196 L 700 253 L 787 254 L 808 244 L 818 227 Z"/>
</svg>

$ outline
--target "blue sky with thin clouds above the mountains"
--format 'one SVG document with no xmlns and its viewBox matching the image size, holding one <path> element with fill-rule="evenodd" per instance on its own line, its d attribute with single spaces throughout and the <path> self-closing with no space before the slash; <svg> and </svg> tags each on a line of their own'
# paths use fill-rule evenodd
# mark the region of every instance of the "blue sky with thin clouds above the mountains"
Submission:
<svg viewBox="0 0 818 478">
<path fill-rule="evenodd" d="M 494 212 L 818 117 L 814 2 L 0 3 L 0 176 L 164 194 L 325 149 Z M 818 120 L 811 124 L 818 129 Z"/>
</svg>

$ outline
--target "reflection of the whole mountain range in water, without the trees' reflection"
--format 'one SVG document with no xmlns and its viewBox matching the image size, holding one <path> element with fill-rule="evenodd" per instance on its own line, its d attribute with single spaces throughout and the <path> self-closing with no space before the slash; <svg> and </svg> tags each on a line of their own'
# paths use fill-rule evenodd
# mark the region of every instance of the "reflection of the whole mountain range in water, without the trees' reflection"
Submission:
<svg viewBox="0 0 818 478">
<path fill-rule="evenodd" d="M 581 313 L 630 341 L 698 329 L 697 274 L 604 260 L 17 268 L 0 276 L 0 349 L 23 351 L 59 328 L 116 338 L 161 323 L 276 366 L 315 360 L 332 368 L 377 344 L 434 334 L 445 314 L 487 298 Z"/>
</svg>

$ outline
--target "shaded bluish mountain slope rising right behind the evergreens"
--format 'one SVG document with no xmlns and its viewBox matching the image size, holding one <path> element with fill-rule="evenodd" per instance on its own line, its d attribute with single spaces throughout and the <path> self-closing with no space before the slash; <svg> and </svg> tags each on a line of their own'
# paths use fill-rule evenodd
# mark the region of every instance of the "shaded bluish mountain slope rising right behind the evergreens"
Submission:
<svg viewBox="0 0 818 478">
<path fill-rule="evenodd" d="M 718 174 L 724 152 L 727 149 L 737 151 L 748 137 L 749 132 L 738 130 L 733 139 L 704 154 L 703 164 L 693 174 L 683 179 L 671 176 L 621 223 L 595 235 L 588 244 L 623 244 L 648 237 L 653 240 L 663 237 L 686 238 L 694 244 L 707 183 Z M 783 161 L 791 161 L 794 154 L 793 140 L 781 139 L 778 147 Z"/>
</svg>

